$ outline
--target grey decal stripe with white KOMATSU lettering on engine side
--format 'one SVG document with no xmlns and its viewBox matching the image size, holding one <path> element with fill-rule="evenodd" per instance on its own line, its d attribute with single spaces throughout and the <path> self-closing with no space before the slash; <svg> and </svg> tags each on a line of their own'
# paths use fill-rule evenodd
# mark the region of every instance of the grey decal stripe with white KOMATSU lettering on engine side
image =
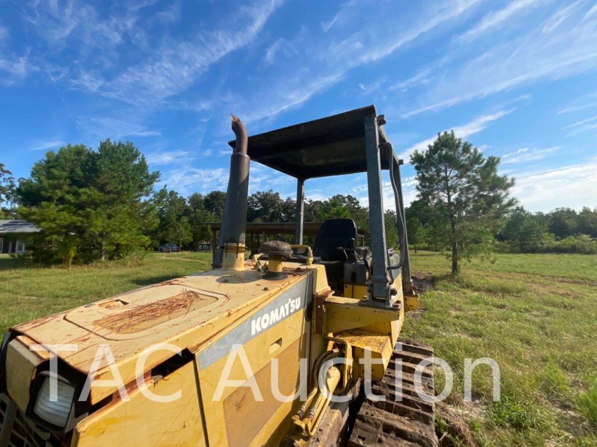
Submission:
<svg viewBox="0 0 597 447">
<path fill-rule="evenodd" d="M 205 347 L 198 354 L 199 368 L 207 368 L 227 356 L 232 350 L 233 344 L 245 344 L 259 336 L 267 328 L 279 324 L 289 316 L 306 308 L 311 301 L 312 278 L 312 274 L 305 275 L 304 280 L 283 291 L 272 302 L 267 303 L 229 333 Z"/>
</svg>

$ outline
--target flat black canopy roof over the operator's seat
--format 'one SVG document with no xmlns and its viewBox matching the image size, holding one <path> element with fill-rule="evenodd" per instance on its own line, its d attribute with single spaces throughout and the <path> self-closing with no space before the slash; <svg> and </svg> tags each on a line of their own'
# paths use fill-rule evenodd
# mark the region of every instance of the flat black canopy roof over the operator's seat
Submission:
<svg viewBox="0 0 597 447">
<path fill-rule="evenodd" d="M 248 155 L 300 179 L 366 172 L 368 114 L 376 114 L 374 105 L 250 136 Z M 379 139 L 388 141 L 381 126 Z M 234 147 L 235 141 L 228 144 Z M 381 169 L 388 169 L 385 157 L 381 157 Z"/>
</svg>

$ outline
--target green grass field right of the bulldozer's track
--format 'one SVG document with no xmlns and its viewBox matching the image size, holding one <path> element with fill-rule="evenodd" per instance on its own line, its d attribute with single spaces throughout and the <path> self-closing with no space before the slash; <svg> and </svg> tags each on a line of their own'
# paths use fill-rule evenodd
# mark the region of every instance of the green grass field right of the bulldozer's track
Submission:
<svg viewBox="0 0 597 447">
<path fill-rule="evenodd" d="M 464 262 L 457 278 L 437 253 L 412 264 L 434 285 L 403 334 L 453 368 L 448 402 L 479 444 L 597 446 L 597 256 L 498 254 Z M 492 401 L 490 368 L 479 366 L 473 402 L 464 402 L 464 359 L 482 357 L 500 366 L 501 401 Z"/>
</svg>

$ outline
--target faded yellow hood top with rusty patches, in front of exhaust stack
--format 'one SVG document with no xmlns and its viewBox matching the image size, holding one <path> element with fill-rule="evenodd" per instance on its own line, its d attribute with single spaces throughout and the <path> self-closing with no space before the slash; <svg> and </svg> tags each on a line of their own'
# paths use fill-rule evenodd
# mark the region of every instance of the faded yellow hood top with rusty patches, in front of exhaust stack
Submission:
<svg viewBox="0 0 597 447">
<path fill-rule="evenodd" d="M 84 374 L 89 373 L 99 345 L 108 344 L 122 380 L 130 383 L 136 378 L 136 360 L 148 346 L 171 343 L 196 352 L 319 267 L 302 266 L 297 271 L 288 266 L 286 278 L 272 281 L 251 269 L 201 272 L 39 318 L 11 331 L 39 344 L 76 344 L 76 351 L 59 356 Z M 152 353 L 146 370 L 171 355 L 168 350 Z M 102 366 L 96 378 L 112 378 L 107 365 Z M 92 387 L 91 400 L 97 402 L 111 392 L 108 387 Z"/>
</svg>

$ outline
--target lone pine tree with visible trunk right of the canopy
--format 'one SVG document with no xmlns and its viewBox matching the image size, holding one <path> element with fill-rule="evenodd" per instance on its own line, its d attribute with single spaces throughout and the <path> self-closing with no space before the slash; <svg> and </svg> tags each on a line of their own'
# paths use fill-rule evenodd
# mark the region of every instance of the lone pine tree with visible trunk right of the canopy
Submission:
<svg viewBox="0 0 597 447">
<path fill-rule="evenodd" d="M 420 199 L 449 222 L 452 273 L 458 260 L 488 248 L 501 218 L 515 200 L 509 198 L 514 179 L 500 176 L 498 157 L 484 157 L 454 131 L 438 134 L 424 151 L 415 151 Z"/>
</svg>

